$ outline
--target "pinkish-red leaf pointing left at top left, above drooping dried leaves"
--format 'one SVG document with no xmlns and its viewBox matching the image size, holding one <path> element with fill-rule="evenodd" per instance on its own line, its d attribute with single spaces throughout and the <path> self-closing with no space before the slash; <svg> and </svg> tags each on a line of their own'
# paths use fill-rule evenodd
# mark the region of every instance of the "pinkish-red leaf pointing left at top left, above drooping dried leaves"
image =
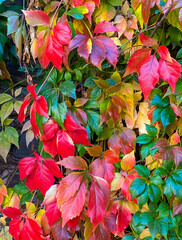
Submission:
<svg viewBox="0 0 182 240">
<path fill-rule="evenodd" d="M 34 11 L 25 11 L 22 10 L 25 15 L 25 19 L 27 23 L 31 26 L 49 26 L 50 20 L 49 16 L 41 11 L 41 10 L 34 10 Z"/>
</svg>

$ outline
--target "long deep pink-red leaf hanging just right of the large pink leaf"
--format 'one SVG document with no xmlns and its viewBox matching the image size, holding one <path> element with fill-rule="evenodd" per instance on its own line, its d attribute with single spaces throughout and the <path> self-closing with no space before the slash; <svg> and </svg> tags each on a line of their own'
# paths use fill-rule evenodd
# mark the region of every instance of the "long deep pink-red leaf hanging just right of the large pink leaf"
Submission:
<svg viewBox="0 0 182 240">
<path fill-rule="evenodd" d="M 95 227 L 106 216 L 106 207 L 110 197 L 110 188 L 106 180 L 94 177 L 88 196 L 88 215 Z"/>
</svg>

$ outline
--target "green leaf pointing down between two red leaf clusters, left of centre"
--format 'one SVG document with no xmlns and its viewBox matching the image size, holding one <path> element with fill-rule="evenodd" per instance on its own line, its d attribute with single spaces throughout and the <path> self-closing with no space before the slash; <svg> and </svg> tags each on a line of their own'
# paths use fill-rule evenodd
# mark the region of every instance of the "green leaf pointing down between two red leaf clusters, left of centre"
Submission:
<svg viewBox="0 0 182 240">
<path fill-rule="evenodd" d="M 66 119 L 67 111 L 68 110 L 65 102 L 51 106 L 52 116 L 54 120 L 58 122 L 62 128 L 64 127 L 63 123 L 64 120 Z"/>
</svg>

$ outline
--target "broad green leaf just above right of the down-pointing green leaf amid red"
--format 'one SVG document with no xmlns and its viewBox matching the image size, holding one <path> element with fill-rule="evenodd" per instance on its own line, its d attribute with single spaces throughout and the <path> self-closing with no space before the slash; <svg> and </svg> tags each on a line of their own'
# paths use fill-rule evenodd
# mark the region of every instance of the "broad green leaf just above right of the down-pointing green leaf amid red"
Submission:
<svg viewBox="0 0 182 240">
<path fill-rule="evenodd" d="M 72 97 L 76 99 L 76 89 L 75 84 L 72 81 L 65 81 L 60 86 L 59 89 L 61 93 L 65 96 Z"/>
</svg>

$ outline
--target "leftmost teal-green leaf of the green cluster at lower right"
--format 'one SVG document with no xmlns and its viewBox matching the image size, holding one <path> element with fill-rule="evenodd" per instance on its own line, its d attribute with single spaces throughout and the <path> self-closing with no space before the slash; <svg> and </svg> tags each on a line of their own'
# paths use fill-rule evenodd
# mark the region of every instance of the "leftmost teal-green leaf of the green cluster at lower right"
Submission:
<svg viewBox="0 0 182 240">
<path fill-rule="evenodd" d="M 146 188 L 146 180 L 142 178 L 135 178 L 130 185 L 131 198 L 139 196 Z"/>
</svg>

